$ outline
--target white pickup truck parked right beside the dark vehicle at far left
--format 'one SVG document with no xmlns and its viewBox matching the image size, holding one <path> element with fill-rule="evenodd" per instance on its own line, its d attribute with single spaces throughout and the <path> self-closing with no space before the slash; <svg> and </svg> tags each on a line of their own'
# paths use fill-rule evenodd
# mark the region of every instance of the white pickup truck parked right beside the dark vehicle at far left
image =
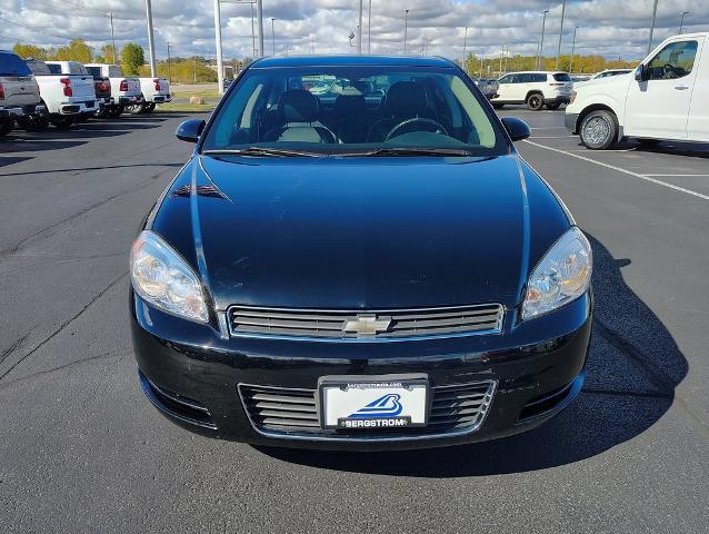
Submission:
<svg viewBox="0 0 709 534">
<path fill-rule="evenodd" d="M 52 73 L 44 61 L 28 59 L 37 83 L 39 85 L 42 105 L 47 107 L 48 117 L 39 120 L 18 120 L 18 125 L 30 131 L 46 129 L 51 122 L 57 128 L 68 128 L 74 119 L 81 115 L 93 113 L 99 109 L 93 90 L 93 79 L 86 73 L 80 73 L 81 63 L 71 61 L 76 75 Z M 57 69 L 56 69 L 57 70 Z"/>
</svg>

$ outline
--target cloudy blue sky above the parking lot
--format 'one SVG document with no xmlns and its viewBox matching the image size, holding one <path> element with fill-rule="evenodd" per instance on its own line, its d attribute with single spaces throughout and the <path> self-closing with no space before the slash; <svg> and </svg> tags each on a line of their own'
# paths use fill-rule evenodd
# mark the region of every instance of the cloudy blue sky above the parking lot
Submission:
<svg viewBox="0 0 709 534">
<path fill-rule="evenodd" d="M 222 0 L 224 58 L 251 57 L 251 6 Z M 229 3 L 228 3 L 229 2 Z M 562 53 L 571 50 L 577 30 L 577 53 L 641 59 L 648 48 L 653 0 L 587 0 L 567 2 Z M 363 0 L 362 40 L 368 49 L 368 8 Z M 213 0 L 152 0 L 156 55 L 216 57 Z M 351 53 L 348 39 L 357 31 L 359 0 L 263 0 L 264 48 L 271 55 Z M 371 52 L 402 53 L 405 9 L 408 52 L 461 58 L 465 27 L 467 49 L 485 57 L 536 55 L 542 11 L 548 9 L 545 56 L 556 56 L 561 2 L 553 0 L 372 0 Z M 0 49 L 17 41 L 60 46 L 81 37 L 97 50 L 110 42 L 108 12 L 113 12 L 118 47 L 138 42 L 147 50 L 146 0 L 0 0 Z M 709 31 L 709 0 L 659 0 L 653 43 L 678 32 Z M 273 34 L 271 18 L 274 18 Z M 13 23 L 14 22 L 14 23 Z M 17 26 L 23 24 L 23 27 Z M 258 31 L 258 29 L 257 29 Z M 354 41 L 353 41 L 354 42 Z M 507 47 L 507 48 L 506 48 Z"/>
</svg>

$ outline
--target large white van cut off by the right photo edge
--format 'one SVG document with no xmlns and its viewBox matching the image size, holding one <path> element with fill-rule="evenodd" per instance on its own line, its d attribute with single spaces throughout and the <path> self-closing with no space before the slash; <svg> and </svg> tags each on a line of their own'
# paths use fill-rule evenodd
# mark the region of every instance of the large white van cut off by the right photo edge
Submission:
<svg viewBox="0 0 709 534">
<path fill-rule="evenodd" d="M 631 75 L 578 87 L 566 126 L 587 148 L 623 138 L 709 142 L 709 32 L 670 37 Z"/>
</svg>

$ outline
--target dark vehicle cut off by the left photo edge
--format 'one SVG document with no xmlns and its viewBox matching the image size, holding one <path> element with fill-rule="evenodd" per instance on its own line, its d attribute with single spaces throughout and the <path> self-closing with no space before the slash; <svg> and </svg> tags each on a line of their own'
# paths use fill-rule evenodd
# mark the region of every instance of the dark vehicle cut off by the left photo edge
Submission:
<svg viewBox="0 0 709 534">
<path fill-rule="evenodd" d="M 43 111 L 39 86 L 27 63 L 18 55 L 0 50 L 0 137 L 12 130 L 16 120 Z"/>
</svg>

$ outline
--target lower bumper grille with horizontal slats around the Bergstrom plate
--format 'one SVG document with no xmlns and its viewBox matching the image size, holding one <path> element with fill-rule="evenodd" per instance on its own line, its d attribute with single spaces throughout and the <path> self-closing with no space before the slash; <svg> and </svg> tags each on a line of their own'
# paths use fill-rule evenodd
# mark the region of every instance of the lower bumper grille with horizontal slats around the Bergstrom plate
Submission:
<svg viewBox="0 0 709 534">
<path fill-rule="evenodd" d="M 469 433 L 476 431 L 495 396 L 495 380 L 475 384 L 432 387 L 431 411 L 428 426 L 423 428 L 398 429 L 397 435 L 417 437 L 450 433 Z M 326 431 L 320 426 L 320 416 L 316 403 L 314 389 L 290 389 L 239 385 L 243 407 L 253 427 L 268 435 L 301 435 L 303 437 L 386 437 L 390 431 Z"/>
</svg>

